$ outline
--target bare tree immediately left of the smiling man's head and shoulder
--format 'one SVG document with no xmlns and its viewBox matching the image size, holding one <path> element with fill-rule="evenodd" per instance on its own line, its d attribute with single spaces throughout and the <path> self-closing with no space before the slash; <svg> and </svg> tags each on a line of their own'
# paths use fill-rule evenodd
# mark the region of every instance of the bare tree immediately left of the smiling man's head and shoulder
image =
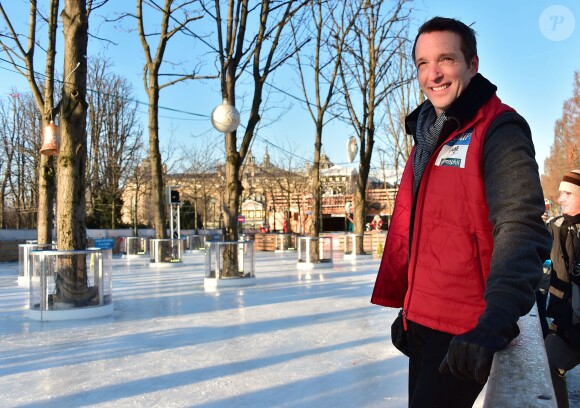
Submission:
<svg viewBox="0 0 580 408">
<path fill-rule="evenodd" d="M 410 13 L 405 7 L 407 2 L 396 0 L 390 9 L 387 9 L 387 0 L 363 2 L 340 66 L 348 123 L 359 140 L 358 179 L 354 194 L 356 234 L 364 233 L 365 196 L 375 132 L 383 120 L 381 106 L 395 89 L 410 80 L 401 79 L 397 73 L 398 56 L 407 41 Z M 363 242 L 358 245 L 362 252 Z"/>
</svg>

